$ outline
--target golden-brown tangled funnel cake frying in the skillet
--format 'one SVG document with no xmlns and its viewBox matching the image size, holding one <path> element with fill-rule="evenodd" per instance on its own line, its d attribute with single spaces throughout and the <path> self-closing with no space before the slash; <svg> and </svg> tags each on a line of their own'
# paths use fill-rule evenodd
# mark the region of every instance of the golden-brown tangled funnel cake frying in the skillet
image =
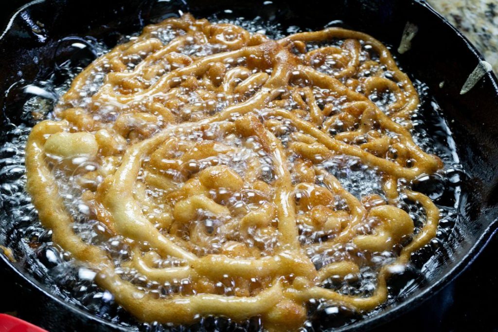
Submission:
<svg viewBox="0 0 498 332">
<path fill-rule="evenodd" d="M 138 320 L 260 316 L 268 330 L 294 330 L 310 299 L 358 312 L 382 304 L 389 267 L 435 236 L 438 208 L 398 182 L 442 167 L 410 135 L 418 104 L 367 34 L 275 41 L 186 14 L 146 26 L 74 79 L 56 120 L 29 136 L 27 190 L 53 241 Z M 346 190 L 326 167 L 343 157 L 374 169 L 382 193 Z M 61 178 L 75 182 L 99 240 L 75 232 Z M 425 211 L 416 234 L 400 196 Z M 109 239 L 127 255 L 114 257 Z M 395 259 L 373 267 L 384 251 Z M 370 294 L 324 287 L 366 266 Z"/>
</svg>

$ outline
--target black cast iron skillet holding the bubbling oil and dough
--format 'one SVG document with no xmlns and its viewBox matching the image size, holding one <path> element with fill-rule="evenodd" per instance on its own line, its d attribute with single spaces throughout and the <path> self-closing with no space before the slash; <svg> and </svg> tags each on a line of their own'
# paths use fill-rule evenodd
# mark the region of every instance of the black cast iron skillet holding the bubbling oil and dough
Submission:
<svg viewBox="0 0 498 332">
<path fill-rule="evenodd" d="M 459 94 L 481 55 L 423 1 L 306 0 L 301 4 L 284 0 L 264 4 L 237 0 L 32 1 L 12 16 L 0 38 L 0 91 L 3 92 L 0 142 L 6 140 L 3 132 L 7 118 L 14 124 L 27 121 L 20 115 L 20 105 L 26 97 L 19 93 L 18 81 L 29 84 L 52 72 L 59 61 L 59 40 L 69 35 L 94 36 L 113 44 L 117 41 L 113 31 L 139 31 L 144 24 L 177 14 L 179 9 L 197 17 L 214 12 L 226 17 L 259 15 L 284 27 L 299 25 L 311 29 L 320 29 L 331 20 L 343 20 L 354 29 L 396 46 L 407 21 L 419 27 L 411 49 L 402 55 L 395 51 L 394 54 L 405 72 L 429 86 L 453 132 L 467 174 L 462 182 L 461 217 L 455 220 L 450 238 L 425 264 L 425 283 L 345 330 L 372 329 L 420 305 L 456 278 L 494 235 L 498 225 L 497 79 L 488 73 L 469 93 Z M 441 81 L 445 82 L 443 88 L 439 86 Z M 3 201 L 0 203 L 3 206 Z M 5 214 L 3 208 L 0 214 Z M 8 216 L 0 219 L 4 217 Z M 29 299 L 30 307 L 37 309 L 31 317 L 34 323 L 50 331 L 124 329 L 64 302 L 24 273 L 24 269 L 22 264 L 13 264 L 0 255 L 0 278 L 7 275 L 12 278 L 20 292 L 19 298 Z"/>
</svg>

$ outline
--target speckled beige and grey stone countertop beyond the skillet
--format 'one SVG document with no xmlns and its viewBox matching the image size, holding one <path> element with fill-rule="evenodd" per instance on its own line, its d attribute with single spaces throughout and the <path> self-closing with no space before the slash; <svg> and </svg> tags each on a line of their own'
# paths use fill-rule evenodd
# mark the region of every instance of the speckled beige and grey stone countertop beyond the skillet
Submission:
<svg viewBox="0 0 498 332">
<path fill-rule="evenodd" d="M 427 0 L 481 51 L 498 73 L 498 0 Z"/>
</svg>

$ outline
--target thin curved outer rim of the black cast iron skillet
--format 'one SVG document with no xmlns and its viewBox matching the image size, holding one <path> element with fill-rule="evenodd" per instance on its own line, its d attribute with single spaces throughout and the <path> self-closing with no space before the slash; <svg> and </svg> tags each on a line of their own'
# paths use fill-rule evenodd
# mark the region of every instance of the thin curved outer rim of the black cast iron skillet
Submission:
<svg viewBox="0 0 498 332">
<path fill-rule="evenodd" d="M 43 3 L 44 0 L 33 0 L 22 6 L 20 6 L 17 10 L 14 11 L 13 15 L 10 17 L 7 22 L 7 26 L 4 31 L 0 33 L 0 42 L 3 39 L 2 37 L 8 32 L 11 28 L 10 22 L 15 19 L 15 16 L 19 14 L 22 10 L 29 8 L 30 6 Z M 427 16 L 433 15 L 441 21 L 443 24 L 447 25 L 450 28 L 452 33 L 455 33 L 459 39 L 461 39 L 465 46 L 472 52 L 476 60 L 485 60 L 482 54 L 476 49 L 476 47 L 460 32 L 457 28 L 455 28 L 445 17 L 443 17 L 439 12 L 437 12 L 434 8 L 432 8 L 426 0 L 411 0 L 412 5 L 418 5 Z M 491 84 L 493 90 L 495 92 L 495 99 L 498 101 L 498 79 L 493 73 L 493 71 L 488 72 L 485 77 L 488 77 L 490 82 L 486 82 L 486 84 Z M 482 78 L 484 79 L 484 77 Z M 441 278 L 436 280 L 435 283 L 428 286 L 426 289 L 420 291 L 409 298 L 404 299 L 402 302 L 394 302 L 390 304 L 390 308 L 383 310 L 382 312 L 375 313 L 373 316 L 364 318 L 360 321 L 357 321 L 348 326 L 342 327 L 340 329 L 335 329 L 334 331 L 354 331 L 354 330 L 371 330 L 375 327 L 378 327 L 382 324 L 387 323 L 392 320 L 396 315 L 406 314 L 409 311 L 419 307 L 423 302 L 427 301 L 429 298 L 435 296 L 439 291 L 441 291 L 445 286 L 450 284 L 453 280 L 455 280 L 462 272 L 464 272 L 481 254 L 481 252 L 486 248 L 488 243 L 492 240 L 492 238 L 498 234 L 498 218 L 495 220 L 491 220 L 489 225 L 482 231 L 482 234 L 479 236 L 477 241 L 470 247 L 469 251 L 464 254 L 464 258 L 455 264 L 455 266 L 446 274 L 444 274 Z M 8 260 L 8 258 L 0 254 L 0 271 L 3 269 L 8 269 L 11 274 L 15 275 L 14 283 L 21 284 L 24 288 L 25 285 L 30 287 L 30 291 L 36 291 L 38 295 L 43 297 L 48 297 L 50 300 L 55 302 L 56 305 L 62 306 L 63 308 L 67 308 L 70 313 L 75 313 L 80 315 L 81 318 L 92 321 L 93 323 L 99 323 L 107 328 L 114 329 L 114 331 L 131 331 L 130 329 L 120 326 L 118 324 L 109 322 L 97 315 L 90 314 L 86 310 L 79 308 L 77 305 L 68 303 L 64 301 L 63 298 L 56 296 L 51 293 L 51 291 L 42 283 L 35 280 L 32 276 L 26 275 L 18 270 L 15 265 Z"/>
</svg>

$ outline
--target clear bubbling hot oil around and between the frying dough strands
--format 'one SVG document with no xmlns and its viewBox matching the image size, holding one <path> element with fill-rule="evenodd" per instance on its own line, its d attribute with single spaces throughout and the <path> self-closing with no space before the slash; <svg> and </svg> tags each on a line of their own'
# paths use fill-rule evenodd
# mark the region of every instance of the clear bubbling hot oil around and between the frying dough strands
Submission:
<svg viewBox="0 0 498 332">
<path fill-rule="evenodd" d="M 217 18 L 213 16 L 210 20 L 216 21 Z M 286 31 L 282 31 L 278 24 L 267 23 L 260 18 L 254 20 L 237 18 L 230 21 L 220 21 L 241 25 L 251 32 L 266 33 L 272 38 L 280 38 L 287 34 Z M 293 27 L 293 30 L 296 29 L 298 28 Z M 174 36 L 175 34 L 171 31 L 160 31 L 158 34 L 158 37 L 164 40 L 170 40 Z M 124 36 L 122 40 L 126 41 L 130 38 L 133 38 L 133 36 Z M 80 65 L 89 64 L 95 56 L 109 51 L 109 48 L 103 43 L 92 39 L 72 40 L 71 42 L 73 44 L 80 43 L 80 45 L 76 46 L 71 44 L 68 50 L 68 39 L 63 40 L 64 49 L 73 56 L 72 61 L 60 61 L 54 69 L 54 73 L 48 79 L 25 85 L 20 91 L 27 99 L 22 110 L 21 119 L 23 121 L 17 125 L 8 125 L 5 144 L 0 149 L 0 197 L 3 206 L 1 211 L 3 230 L 0 232 L 0 243 L 14 249 L 16 258 L 21 258 L 19 261 L 22 268 L 28 271 L 35 279 L 50 287 L 52 292 L 58 294 L 67 302 L 85 308 L 108 321 L 128 326 L 132 329 L 139 331 L 261 330 L 259 318 L 251 318 L 242 324 L 236 324 L 225 318 L 202 317 L 199 318 L 197 324 L 191 327 L 138 323 L 114 302 L 114 297 L 111 293 L 100 289 L 94 283 L 95 272 L 76 262 L 68 253 L 61 250 L 52 242 L 51 231 L 41 226 L 37 219 L 36 211 L 31 204 L 31 199 L 24 189 L 26 181 L 24 149 L 27 136 L 36 121 L 53 118 L 52 111 L 55 101 L 68 90 L 72 79 L 83 69 Z M 73 49 L 73 52 L 71 52 L 71 49 Z M 187 46 L 182 51 L 185 54 L 197 53 L 204 55 L 220 50 Z M 61 54 L 64 55 L 65 53 L 62 52 Z M 128 63 L 129 70 L 134 67 L 135 60 L 130 59 Z M 237 61 L 239 60 L 234 59 L 234 65 L 237 65 Z M 333 65 L 331 63 L 324 64 L 321 70 L 333 72 Z M 90 97 L 102 85 L 105 72 L 105 67 L 99 68 L 91 75 L 91 80 L 81 92 L 79 104 L 73 106 L 88 106 Z M 369 73 L 363 74 L 365 76 L 369 75 Z M 408 267 L 394 267 L 393 271 L 391 271 L 394 276 L 389 280 L 390 294 L 388 302 L 396 301 L 400 294 L 404 295 L 406 292 L 414 290 L 417 285 L 423 284 L 424 264 L 434 255 L 435 249 L 440 247 L 451 235 L 453 226 L 458 219 L 456 207 L 459 204 L 459 184 L 465 176 L 462 166 L 459 165 L 451 132 L 440 114 L 437 103 L 432 99 L 430 91 L 422 82 L 414 80 L 414 85 L 419 92 L 421 106 L 412 117 L 412 136 L 423 150 L 438 155 L 443 160 L 445 167 L 434 175 L 421 176 L 412 183 L 400 180 L 399 185 L 401 187 L 412 187 L 429 195 L 440 208 L 441 220 L 437 237 L 429 245 L 412 255 L 411 264 Z M 189 99 L 195 103 L 195 98 L 197 97 L 191 96 Z M 215 109 L 219 111 L 225 108 L 229 101 L 223 95 L 218 96 L 218 98 L 219 104 L 216 105 Z M 389 96 L 376 96 L 371 99 L 382 109 L 389 100 Z M 116 110 L 109 105 L 103 107 L 102 112 L 97 116 L 113 121 L 115 115 Z M 19 121 L 15 123 L 19 123 Z M 195 139 L 195 133 L 190 135 L 185 139 Z M 241 173 L 244 171 L 243 164 L 234 163 L 233 158 L 227 158 L 227 161 L 224 162 L 223 158 L 223 156 L 220 157 L 222 164 L 226 163 Z M 244 159 L 245 156 L 242 155 L 240 158 Z M 273 176 L 271 161 L 268 162 L 268 165 L 263 166 L 268 168 L 265 174 L 266 180 L 271 181 Z M 376 169 L 361 164 L 359 160 L 353 157 L 337 156 L 323 161 L 322 166 L 328 172 L 334 174 L 342 185 L 358 198 L 374 193 L 383 195 L 381 174 Z M 96 166 L 88 161 L 81 161 L 79 167 Z M 123 279 L 141 287 L 143 292 L 150 292 L 161 298 L 167 298 L 172 294 L 182 294 L 184 289 L 188 288 L 189 280 L 178 281 L 175 284 L 159 285 L 148 281 L 135 271 L 120 268 L 119 265 L 122 262 L 129 260 L 129 245 L 120 236 L 102 238 L 101 234 L 106 232 L 106 226 L 87 217 L 89 207 L 81 200 L 81 190 L 78 186 L 71 185 L 79 176 L 78 172 L 61 172 L 56 175 L 64 202 L 75 218 L 73 226 L 75 232 L 85 242 L 98 244 L 104 248 L 117 264 L 117 273 L 122 274 Z M 239 201 L 236 199 L 232 203 L 238 204 Z M 419 230 L 425 223 L 423 209 L 408 199 L 402 199 L 398 205 L 410 214 Z M 302 241 L 306 241 L 306 239 Z M 216 250 L 216 248 L 213 250 Z M 310 252 L 308 255 L 312 258 L 316 267 L 319 268 L 324 264 L 341 261 L 351 255 L 358 255 L 358 253 L 355 252 L 352 246 L 346 244 L 322 254 Z M 331 278 L 324 282 L 323 287 L 337 290 L 346 295 L 369 296 L 376 287 L 377 268 L 394 261 L 395 257 L 396 253 L 390 251 L 376 253 L 373 257 L 369 257 L 369 260 L 373 262 L 373 266 L 363 267 L 359 276 L 347 276 L 344 281 Z M 365 257 L 355 258 L 367 259 Z M 179 266 L 181 264 L 181 261 L 173 258 L 157 262 L 158 267 Z M 257 282 L 257 280 L 254 282 Z M 231 283 L 232 281 L 227 278 L 227 280 L 220 282 L 217 287 L 222 294 L 232 295 Z M 138 292 L 137 297 L 143 296 L 143 292 Z M 341 327 L 362 318 L 361 315 L 348 308 L 321 301 L 320 299 L 310 301 L 308 310 L 309 320 L 303 327 L 306 331 Z"/>
</svg>

